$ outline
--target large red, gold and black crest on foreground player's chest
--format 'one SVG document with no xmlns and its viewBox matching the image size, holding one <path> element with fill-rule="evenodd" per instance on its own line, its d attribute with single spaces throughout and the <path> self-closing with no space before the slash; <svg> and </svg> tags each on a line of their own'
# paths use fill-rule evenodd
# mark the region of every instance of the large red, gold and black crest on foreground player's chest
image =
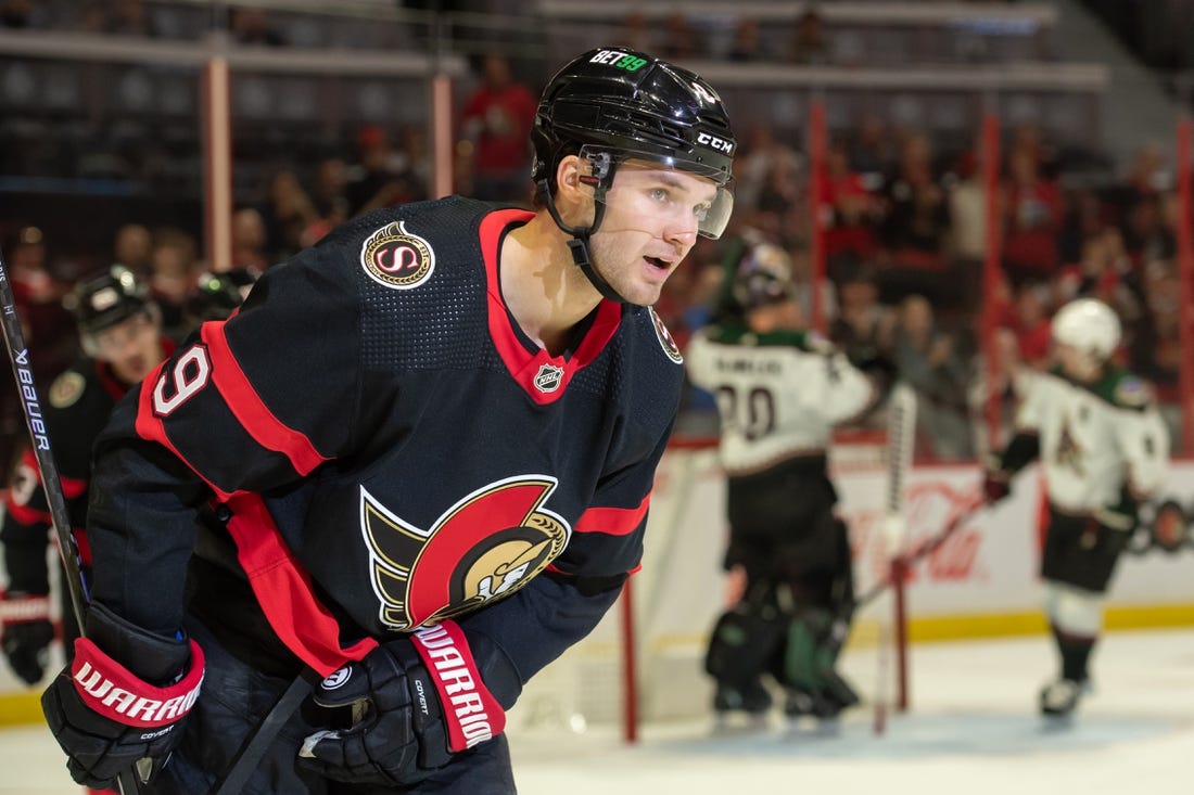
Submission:
<svg viewBox="0 0 1194 795">
<path fill-rule="evenodd" d="M 513 593 L 547 568 L 572 529 L 543 509 L 556 480 L 521 475 L 480 488 L 420 529 L 361 487 L 378 616 L 407 630 Z"/>
</svg>

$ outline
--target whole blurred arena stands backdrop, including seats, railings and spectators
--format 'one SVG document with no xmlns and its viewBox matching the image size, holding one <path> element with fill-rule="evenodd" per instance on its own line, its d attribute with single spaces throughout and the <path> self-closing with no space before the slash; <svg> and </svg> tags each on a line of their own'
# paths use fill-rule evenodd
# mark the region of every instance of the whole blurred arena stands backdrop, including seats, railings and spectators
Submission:
<svg viewBox="0 0 1194 795">
<path fill-rule="evenodd" d="M 987 395 L 1004 398 L 1007 426 L 1013 374 L 1050 364 L 1052 313 L 1093 295 L 1120 314 L 1119 359 L 1156 386 L 1181 449 L 1180 242 L 1194 220 L 1174 140 L 1194 110 L 1190 30 L 1194 0 L 0 0 L 0 242 L 47 384 L 76 353 L 61 298 L 99 267 L 144 275 L 181 335 L 202 272 L 264 271 L 359 212 L 430 197 L 436 74 L 451 75 L 451 189 L 528 203 L 528 136 L 552 67 L 624 44 L 708 76 L 737 125 L 732 228 L 701 241 L 657 307 L 681 344 L 744 247 L 780 244 L 807 322 L 880 352 L 916 388 L 918 457 L 970 460 L 992 442 Z M 196 66 L 213 48 L 241 57 L 232 246 L 216 258 Z M 259 51 L 275 56 L 246 55 Z M 313 53 L 349 66 L 304 68 Z M 370 66 L 402 57 L 401 72 Z M 813 100 L 827 112 L 816 160 Z M 979 146 L 990 112 L 993 215 Z M 5 402 L 10 439 L 20 419 Z M 715 427 L 712 401 L 690 390 L 677 432 Z"/>
</svg>

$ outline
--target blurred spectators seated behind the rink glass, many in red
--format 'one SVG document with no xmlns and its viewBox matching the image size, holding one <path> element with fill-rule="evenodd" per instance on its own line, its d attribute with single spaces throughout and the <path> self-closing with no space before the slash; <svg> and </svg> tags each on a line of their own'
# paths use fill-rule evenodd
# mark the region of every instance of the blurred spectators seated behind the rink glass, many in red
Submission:
<svg viewBox="0 0 1194 795">
<path fill-rule="evenodd" d="M 6 29 L 74 26 L 168 36 L 154 19 L 142 0 L 0 0 L 0 25 Z M 227 24 L 244 44 L 288 43 L 267 13 L 250 5 L 230 7 Z M 630 14 L 617 26 L 617 43 L 669 58 L 707 53 L 701 36 L 679 13 L 663 25 Z M 739 19 L 724 49 L 724 57 L 739 62 L 814 66 L 843 60 L 842 47 L 830 47 L 814 7 L 782 37 L 758 20 Z M 455 121 L 454 190 L 527 204 L 531 192 L 524 142 L 537 86 L 519 78 L 499 53 L 478 56 L 473 66 L 472 88 L 460 98 Z M 1126 174 L 1091 184 L 1072 178 L 1059 156 L 1064 142 L 1051 141 L 1036 124 L 1008 130 L 996 197 L 1001 281 L 990 292 L 983 276 L 987 196 L 977 146 L 935 140 L 925 130 L 873 113 L 848 130 L 831 131 L 824 162 L 813 164 L 804 141 L 789 140 L 773 125 L 737 132 L 732 228 L 719 241 L 701 241 L 669 281 L 658 307 L 681 343 L 716 310 L 722 275 L 745 246 L 759 240 L 781 245 L 802 282 L 806 322 L 818 319 L 816 303 L 831 339 L 847 351 L 885 357 L 917 390 L 923 408 L 918 455 L 967 460 L 999 442 L 987 438 L 986 395 L 995 390 L 1010 408 L 1014 374 L 1051 364 L 1053 312 L 1089 295 L 1119 313 L 1125 327 L 1119 359 L 1155 384 L 1175 442 L 1180 437 L 1176 240 L 1178 226 L 1192 220 L 1180 215 L 1175 174 L 1159 148 L 1141 144 Z M 149 278 L 167 328 L 181 332 L 181 307 L 204 270 L 264 271 L 350 217 L 430 196 L 430 146 L 423 124 L 363 124 L 349 142 L 345 150 L 316 161 L 288 162 L 284 153 L 275 158 L 257 195 L 238 199 L 228 261 L 201 258 L 198 218 L 177 226 L 127 218 L 111 235 L 110 251 L 85 253 L 47 239 L 36 218 L 0 220 L 5 259 L 24 290 L 31 335 L 47 351 L 39 356 L 42 366 L 49 371 L 69 360 L 73 332 L 63 331 L 69 318 L 60 312 L 61 297 L 74 281 L 110 261 Z M 820 170 L 816 180 L 814 167 Z M 813 245 L 814 228 L 823 246 Z M 826 278 L 814 283 L 811 257 L 821 248 Z M 981 335 L 980 319 L 989 310 L 998 327 L 993 345 L 985 345 Z M 989 349 L 998 356 L 995 383 L 986 382 Z M 51 375 L 41 374 L 42 382 Z M 685 412 L 679 432 L 712 431 L 707 395 L 691 390 Z M 1010 411 L 1004 413 L 1005 433 Z M 5 435 L 11 435 L 11 412 L 4 423 Z"/>
</svg>

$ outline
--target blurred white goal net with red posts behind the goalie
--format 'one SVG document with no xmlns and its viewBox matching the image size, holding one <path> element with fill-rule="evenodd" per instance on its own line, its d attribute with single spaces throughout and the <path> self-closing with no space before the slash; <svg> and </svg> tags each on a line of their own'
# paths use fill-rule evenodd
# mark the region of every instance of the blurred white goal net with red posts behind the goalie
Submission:
<svg viewBox="0 0 1194 795">
<path fill-rule="evenodd" d="M 885 509 L 854 492 L 881 493 L 887 432 L 839 431 L 830 468 L 842 493 L 855 560 L 855 590 L 872 592 L 855 615 L 841 667 L 864 704 L 901 701 L 903 621 L 891 588 Z M 712 720 L 703 659 L 709 631 L 733 598 L 721 568 L 727 528 L 716 440 L 673 443 L 656 476 L 641 569 L 585 640 L 540 672 L 511 711 L 511 728 L 585 732 L 617 727 L 633 741 L 653 725 Z M 882 649 L 880 641 L 892 645 Z"/>
</svg>

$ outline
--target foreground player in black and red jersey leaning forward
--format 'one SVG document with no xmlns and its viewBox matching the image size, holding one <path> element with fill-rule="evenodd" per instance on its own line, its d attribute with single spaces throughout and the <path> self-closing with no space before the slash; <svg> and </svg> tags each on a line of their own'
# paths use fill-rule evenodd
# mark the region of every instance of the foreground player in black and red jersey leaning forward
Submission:
<svg viewBox="0 0 1194 795">
<path fill-rule="evenodd" d="M 639 563 L 683 376 L 650 304 L 724 230 L 736 148 L 704 80 L 617 48 L 533 142 L 535 210 L 353 218 L 117 407 L 88 636 L 43 697 L 78 781 L 209 791 L 269 721 L 242 791 L 515 791 L 505 710 Z"/>
</svg>

